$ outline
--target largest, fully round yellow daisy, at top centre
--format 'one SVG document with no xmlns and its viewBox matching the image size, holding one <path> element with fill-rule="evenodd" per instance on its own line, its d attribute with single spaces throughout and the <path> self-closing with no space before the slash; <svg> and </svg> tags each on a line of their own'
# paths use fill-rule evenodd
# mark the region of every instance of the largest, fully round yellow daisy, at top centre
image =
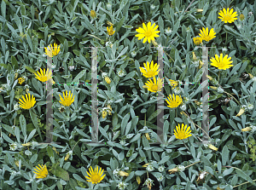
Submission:
<svg viewBox="0 0 256 190">
<path fill-rule="evenodd" d="M 151 40 L 154 40 L 154 37 L 160 37 L 157 35 L 157 33 L 159 33 L 160 31 L 156 31 L 156 29 L 158 28 L 158 25 L 155 26 L 155 23 L 153 24 L 153 26 L 151 26 L 151 22 L 148 22 L 148 26 L 146 26 L 143 23 L 143 28 L 139 27 L 138 29 L 136 29 L 137 32 L 139 32 L 137 35 L 135 35 L 136 37 L 138 37 L 138 40 L 141 40 L 143 37 L 145 37 L 143 39 L 143 43 L 146 43 L 148 40 L 148 43 L 150 43 Z"/>
</svg>

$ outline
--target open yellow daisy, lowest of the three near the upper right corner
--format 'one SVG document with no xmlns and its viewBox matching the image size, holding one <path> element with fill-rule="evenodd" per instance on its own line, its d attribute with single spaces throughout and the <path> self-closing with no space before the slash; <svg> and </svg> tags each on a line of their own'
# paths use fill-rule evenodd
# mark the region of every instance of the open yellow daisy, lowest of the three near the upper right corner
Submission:
<svg viewBox="0 0 256 190">
<path fill-rule="evenodd" d="M 211 65 L 216 66 L 218 69 L 226 70 L 231 66 L 234 66 L 234 65 L 230 65 L 233 62 L 233 60 L 231 60 L 231 57 L 228 58 L 228 55 L 225 55 L 224 57 L 223 57 L 223 54 L 220 54 L 219 57 L 218 55 L 215 55 L 215 59 L 212 57 L 211 61 L 212 61 Z"/>
</svg>

